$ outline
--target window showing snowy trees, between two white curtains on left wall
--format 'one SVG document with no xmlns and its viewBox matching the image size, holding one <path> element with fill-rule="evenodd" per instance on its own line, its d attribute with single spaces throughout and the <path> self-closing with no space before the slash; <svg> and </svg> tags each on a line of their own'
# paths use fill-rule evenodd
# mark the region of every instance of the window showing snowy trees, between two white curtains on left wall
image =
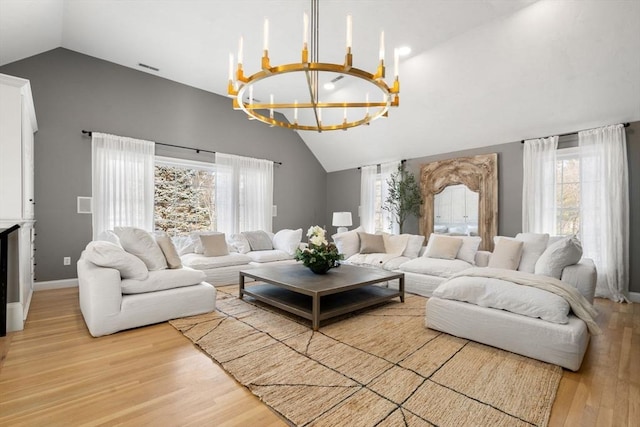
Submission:
<svg viewBox="0 0 640 427">
<path fill-rule="evenodd" d="M 214 165 L 156 157 L 154 223 L 171 236 L 215 230 Z"/>
</svg>

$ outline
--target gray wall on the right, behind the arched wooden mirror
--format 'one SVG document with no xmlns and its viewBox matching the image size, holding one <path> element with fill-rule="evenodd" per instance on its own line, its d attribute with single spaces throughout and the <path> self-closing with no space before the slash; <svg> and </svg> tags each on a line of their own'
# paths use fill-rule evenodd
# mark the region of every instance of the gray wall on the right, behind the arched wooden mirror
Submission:
<svg viewBox="0 0 640 427">
<path fill-rule="evenodd" d="M 640 292 L 640 264 L 634 262 L 640 256 L 640 122 L 632 123 L 627 131 L 627 155 L 629 163 L 630 197 L 630 282 L 631 292 Z M 566 142 L 565 142 L 566 141 Z M 575 145 L 576 138 L 563 138 L 560 146 Z M 433 142 L 425 142 L 429 144 Z M 515 236 L 522 231 L 522 151 L 520 141 L 490 147 L 464 150 L 437 156 L 420 157 L 407 161 L 408 169 L 419 176 L 420 165 L 433 161 L 478 154 L 498 153 L 498 234 Z M 351 211 L 353 228 L 360 223 L 358 205 L 360 204 L 360 171 L 357 169 L 329 173 L 327 176 L 327 223 L 331 222 L 332 212 Z M 331 230 L 335 232 L 335 227 Z M 407 221 L 406 231 L 418 233 L 415 218 Z"/>
</svg>

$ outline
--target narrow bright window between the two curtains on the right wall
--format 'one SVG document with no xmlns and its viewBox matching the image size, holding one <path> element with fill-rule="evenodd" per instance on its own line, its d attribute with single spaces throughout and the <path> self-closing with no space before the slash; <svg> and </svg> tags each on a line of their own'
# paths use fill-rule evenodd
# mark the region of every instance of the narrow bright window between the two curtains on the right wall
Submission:
<svg viewBox="0 0 640 427">
<path fill-rule="evenodd" d="M 580 233 L 580 158 L 577 148 L 556 152 L 556 234 Z"/>
</svg>

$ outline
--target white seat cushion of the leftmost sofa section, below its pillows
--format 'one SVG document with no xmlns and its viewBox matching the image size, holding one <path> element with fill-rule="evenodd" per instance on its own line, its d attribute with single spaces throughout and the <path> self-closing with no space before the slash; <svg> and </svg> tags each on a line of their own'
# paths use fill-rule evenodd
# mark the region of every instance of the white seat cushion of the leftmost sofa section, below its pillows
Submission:
<svg viewBox="0 0 640 427">
<path fill-rule="evenodd" d="M 150 271 L 145 280 L 126 279 L 120 283 L 123 294 L 142 294 L 197 285 L 205 279 L 202 271 L 191 268 Z"/>
</svg>

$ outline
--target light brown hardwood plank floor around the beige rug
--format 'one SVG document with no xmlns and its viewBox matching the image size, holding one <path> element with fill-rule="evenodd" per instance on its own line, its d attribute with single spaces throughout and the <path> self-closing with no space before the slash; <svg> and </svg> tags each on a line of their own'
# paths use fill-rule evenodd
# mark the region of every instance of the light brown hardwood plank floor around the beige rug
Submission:
<svg viewBox="0 0 640 427">
<path fill-rule="evenodd" d="M 605 333 L 564 372 L 550 426 L 640 420 L 640 305 L 596 307 Z M 35 293 L 0 357 L 0 426 L 286 425 L 168 323 L 92 338 L 77 288 Z"/>
</svg>

